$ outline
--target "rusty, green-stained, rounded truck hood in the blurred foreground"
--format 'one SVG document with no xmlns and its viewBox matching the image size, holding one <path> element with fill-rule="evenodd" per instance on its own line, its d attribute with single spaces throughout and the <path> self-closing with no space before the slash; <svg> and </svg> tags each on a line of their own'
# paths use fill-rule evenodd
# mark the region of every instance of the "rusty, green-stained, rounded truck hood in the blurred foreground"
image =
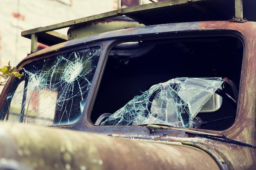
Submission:
<svg viewBox="0 0 256 170">
<path fill-rule="evenodd" d="M 0 169 L 219 169 L 203 150 L 165 142 L 0 123 Z"/>
</svg>

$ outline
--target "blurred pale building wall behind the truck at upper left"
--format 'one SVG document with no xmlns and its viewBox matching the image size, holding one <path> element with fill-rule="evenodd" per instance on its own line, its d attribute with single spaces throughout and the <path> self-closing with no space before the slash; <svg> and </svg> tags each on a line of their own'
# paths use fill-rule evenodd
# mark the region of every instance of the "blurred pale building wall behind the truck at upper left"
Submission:
<svg viewBox="0 0 256 170">
<path fill-rule="evenodd" d="M 144 3 L 150 3 L 144 0 Z M 139 0 L 122 0 L 122 7 Z M 117 0 L 1 0 L 0 67 L 13 66 L 30 53 L 30 40 L 21 32 L 117 9 Z M 66 34 L 67 29 L 59 30 Z"/>
</svg>

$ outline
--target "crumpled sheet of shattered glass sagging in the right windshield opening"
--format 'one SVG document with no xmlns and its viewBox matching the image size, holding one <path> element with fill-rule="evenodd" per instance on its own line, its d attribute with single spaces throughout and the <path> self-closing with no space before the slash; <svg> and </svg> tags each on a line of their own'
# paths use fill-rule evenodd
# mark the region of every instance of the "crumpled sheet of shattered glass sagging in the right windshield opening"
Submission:
<svg viewBox="0 0 256 170">
<path fill-rule="evenodd" d="M 101 125 L 163 124 L 192 127 L 192 120 L 222 85 L 222 78 L 174 78 L 135 96 Z"/>
</svg>

